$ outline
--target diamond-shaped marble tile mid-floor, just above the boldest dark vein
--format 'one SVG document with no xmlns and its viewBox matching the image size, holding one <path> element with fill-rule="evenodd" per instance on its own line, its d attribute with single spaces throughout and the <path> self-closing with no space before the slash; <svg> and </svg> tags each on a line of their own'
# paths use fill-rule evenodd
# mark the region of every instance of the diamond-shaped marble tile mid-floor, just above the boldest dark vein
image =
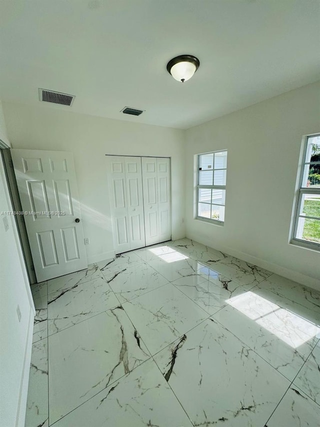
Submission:
<svg viewBox="0 0 320 427">
<path fill-rule="evenodd" d="M 171 283 L 125 302 L 123 308 L 151 354 L 208 317 Z"/>
</svg>

